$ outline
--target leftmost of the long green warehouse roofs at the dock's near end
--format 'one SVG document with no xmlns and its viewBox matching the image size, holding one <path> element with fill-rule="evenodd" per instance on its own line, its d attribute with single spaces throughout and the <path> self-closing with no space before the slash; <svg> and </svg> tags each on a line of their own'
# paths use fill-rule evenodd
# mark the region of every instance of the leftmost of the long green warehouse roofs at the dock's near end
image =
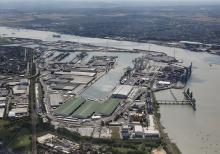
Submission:
<svg viewBox="0 0 220 154">
<path fill-rule="evenodd" d="M 86 101 L 86 99 L 84 99 L 82 97 L 73 97 L 73 98 L 67 100 L 60 107 L 58 107 L 54 111 L 54 115 L 69 116 L 74 111 L 76 111 L 83 103 L 85 103 L 85 101 Z"/>
</svg>

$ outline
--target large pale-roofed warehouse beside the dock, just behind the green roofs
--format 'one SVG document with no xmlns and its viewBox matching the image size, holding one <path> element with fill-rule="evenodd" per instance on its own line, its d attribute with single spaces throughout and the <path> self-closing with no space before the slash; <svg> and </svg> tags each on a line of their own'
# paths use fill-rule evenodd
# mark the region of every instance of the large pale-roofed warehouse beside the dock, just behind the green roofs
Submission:
<svg viewBox="0 0 220 154">
<path fill-rule="evenodd" d="M 130 86 L 130 85 L 120 85 L 113 92 L 112 97 L 113 98 L 126 99 L 131 91 L 132 91 L 132 86 Z"/>
</svg>

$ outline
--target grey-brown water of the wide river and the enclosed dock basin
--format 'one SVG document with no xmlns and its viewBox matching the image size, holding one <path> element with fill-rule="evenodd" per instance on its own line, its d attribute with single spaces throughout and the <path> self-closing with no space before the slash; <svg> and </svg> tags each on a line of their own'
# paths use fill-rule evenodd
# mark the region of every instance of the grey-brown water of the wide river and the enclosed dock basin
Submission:
<svg viewBox="0 0 220 154">
<path fill-rule="evenodd" d="M 0 35 L 4 37 L 31 38 L 43 41 L 75 41 L 98 46 L 106 46 L 108 44 L 109 47 L 122 49 L 149 49 L 150 46 L 151 50 L 165 52 L 171 56 L 174 51 L 170 47 L 147 43 L 87 38 L 74 35 L 61 35 L 61 38 L 54 38 L 53 34 L 56 33 L 0 27 Z M 112 55 L 114 54 L 112 53 Z M 107 76 L 96 82 L 91 87 L 91 90 L 86 92 L 87 96 L 95 97 L 94 93 L 91 93 L 91 91 L 95 90 L 98 90 L 98 93 L 103 92 L 100 96 L 105 96 L 106 92 L 104 91 L 111 89 L 114 85 L 113 83 L 116 84 L 118 82 L 116 80 L 123 73 L 121 72 L 123 71 L 122 67 L 130 65 L 131 60 L 137 56 L 129 53 L 118 53 L 118 55 L 124 65 L 118 65 L 121 68 L 115 68 Z M 184 49 L 175 49 L 175 55 L 177 59 L 183 60 L 186 65 L 193 63 L 193 73 L 187 87 L 192 89 L 194 93 L 197 101 L 197 111 L 193 111 L 190 106 L 161 106 L 162 124 L 183 154 L 219 154 L 220 97 L 218 95 L 220 94 L 220 57 L 207 53 L 190 52 Z M 178 97 L 182 97 L 181 90 L 173 90 L 173 92 Z M 163 91 L 156 93 L 156 96 L 158 99 L 168 99 L 170 94 L 169 91 Z"/>
</svg>

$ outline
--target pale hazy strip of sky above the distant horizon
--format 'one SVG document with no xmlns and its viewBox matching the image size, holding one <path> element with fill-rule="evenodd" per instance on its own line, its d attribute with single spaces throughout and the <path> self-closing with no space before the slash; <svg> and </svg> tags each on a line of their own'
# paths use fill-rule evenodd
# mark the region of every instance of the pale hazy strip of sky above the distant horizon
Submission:
<svg viewBox="0 0 220 154">
<path fill-rule="evenodd" d="M 216 5 L 220 0 L 0 0 L 0 8 L 108 8 Z"/>
</svg>

